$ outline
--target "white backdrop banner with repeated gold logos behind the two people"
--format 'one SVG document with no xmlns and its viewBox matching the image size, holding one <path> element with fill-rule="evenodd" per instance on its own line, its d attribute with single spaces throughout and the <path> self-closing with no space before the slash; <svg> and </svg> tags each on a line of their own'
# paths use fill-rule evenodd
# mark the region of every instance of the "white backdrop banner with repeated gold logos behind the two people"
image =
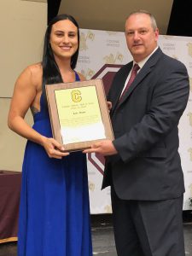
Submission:
<svg viewBox="0 0 192 256">
<path fill-rule="evenodd" d="M 106 94 L 114 74 L 125 63 L 132 60 L 124 32 L 80 30 L 79 61 L 77 71 L 86 79 L 102 79 Z M 183 210 L 190 210 L 192 198 L 192 38 L 160 36 L 160 48 L 166 55 L 182 61 L 188 69 L 190 96 L 187 108 L 179 123 L 179 153 L 181 155 L 185 189 Z M 92 214 L 112 212 L 110 188 L 101 190 L 104 158 L 88 154 L 88 175 L 90 190 L 90 212 Z"/>
</svg>

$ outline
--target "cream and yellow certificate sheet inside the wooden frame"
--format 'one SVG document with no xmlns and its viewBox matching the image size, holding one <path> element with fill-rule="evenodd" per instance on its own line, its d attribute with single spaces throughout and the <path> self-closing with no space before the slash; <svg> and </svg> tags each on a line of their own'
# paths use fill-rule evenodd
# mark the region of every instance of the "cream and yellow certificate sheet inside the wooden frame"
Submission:
<svg viewBox="0 0 192 256">
<path fill-rule="evenodd" d="M 64 144 L 106 138 L 96 86 L 55 90 Z"/>
</svg>

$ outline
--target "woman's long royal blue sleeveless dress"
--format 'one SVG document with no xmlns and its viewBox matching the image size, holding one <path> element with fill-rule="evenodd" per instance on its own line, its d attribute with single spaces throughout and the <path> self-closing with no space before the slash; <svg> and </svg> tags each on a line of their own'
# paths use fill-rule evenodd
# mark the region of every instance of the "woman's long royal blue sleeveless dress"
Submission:
<svg viewBox="0 0 192 256">
<path fill-rule="evenodd" d="M 76 73 L 76 81 L 79 76 Z M 43 96 L 33 129 L 52 137 Z M 22 168 L 18 256 L 92 256 L 86 156 L 50 159 L 28 141 Z"/>
</svg>

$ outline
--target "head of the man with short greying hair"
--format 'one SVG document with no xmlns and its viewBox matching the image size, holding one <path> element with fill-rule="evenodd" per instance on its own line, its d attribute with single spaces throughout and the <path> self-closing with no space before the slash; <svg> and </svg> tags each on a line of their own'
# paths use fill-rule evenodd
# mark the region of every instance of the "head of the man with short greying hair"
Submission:
<svg viewBox="0 0 192 256">
<path fill-rule="evenodd" d="M 128 49 L 137 62 L 143 61 L 157 46 L 158 29 L 152 27 L 146 14 L 131 15 L 125 22 L 125 38 Z"/>
</svg>

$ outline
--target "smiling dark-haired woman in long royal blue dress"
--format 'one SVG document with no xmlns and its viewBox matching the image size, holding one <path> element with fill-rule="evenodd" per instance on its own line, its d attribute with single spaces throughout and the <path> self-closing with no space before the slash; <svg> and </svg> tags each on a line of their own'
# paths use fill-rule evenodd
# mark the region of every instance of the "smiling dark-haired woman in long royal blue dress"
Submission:
<svg viewBox="0 0 192 256">
<path fill-rule="evenodd" d="M 15 83 L 9 128 L 26 137 L 22 167 L 18 256 L 91 256 L 86 158 L 64 153 L 52 137 L 44 85 L 84 80 L 74 68 L 79 26 L 70 15 L 50 21 L 43 61 L 26 67 Z M 51 86 L 51 85 L 50 85 Z M 34 125 L 26 124 L 31 108 Z"/>
</svg>

